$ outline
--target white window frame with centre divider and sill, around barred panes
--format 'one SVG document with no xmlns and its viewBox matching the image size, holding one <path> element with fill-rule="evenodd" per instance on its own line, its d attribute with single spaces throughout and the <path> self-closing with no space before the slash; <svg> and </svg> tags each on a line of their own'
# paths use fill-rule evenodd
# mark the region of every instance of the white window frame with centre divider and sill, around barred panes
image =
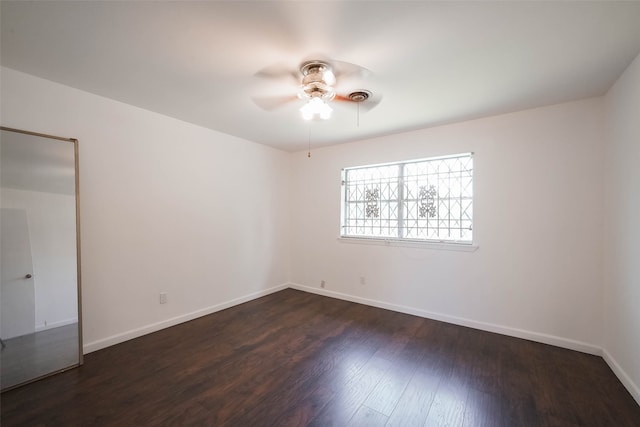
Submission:
<svg viewBox="0 0 640 427">
<path fill-rule="evenodd" d="M 466 196 L 465 200 L 467 201 L 467 203 L 469 203 L 470 205 L 470 210 L 471 210 L 471 216 L 470 219 L 465 220 L 465 223 L 469 223 L 469 232 L 468 234 L 470 234 L 470 239 L 464 239 L 464 238 L 460 238 L 460 239 L 455 239 L 455 238 L 417 238 L 417 237 L 405 237 L 407 234 L 411 234 L 414 233 L 414 235 L 416 233 L 419 233 L 418 228 L 419 227 L 414 227 L 413 229 L 410 226 L 405 226 L 405 222 L 406 222 L 406 217 L 405 217 L 405 213 L 403 212 L 403 209 L 405 207 L 405 205 L 409 204 L 409 203 L 414 203 L 414 206 L 418 205 L 418 199 L 416 197 L 416 195 L 413 196 L 413 198 L 411 199 L 407 199 L 405 197 L 404 190 L 405 190 L 405 184 L 404 184 L 404 180 L 405 177 L 407 176 L 405 173 L 405 167 L 407 165 L 414 165 L 414 164 L 420 164 L 420 163 L 429 163 L 429 162 L 441 162 L 442 160 L 448 160 L 448 159 L 457 159 L 457 158 L 468 158 L 470 160 L 470 165 L 471 168 L 469 170 L 470 173 L 470 177 L 466 177 L 467 179 L 470 178 L 471 180 L 471 189 L 470 189 L 470 196 Z M 390 162 L 390 163 L 379 163 L 379 164 L 371 164 L 371 165 L 363 165 L 363 166 L 357 166 L 357 167 L 348 167 L 348 168 L 344 168 L 342 169 L 342 179 L 341 179 L 341 205 L 340 205 L 340 237 L 339 240 L 343 241 L 343 242 L 347 242 L 347 243 L 367 243 L 367 244 L 385 244 L 385 245 L 398 245 L 398 246 L 409 246 L 409 247 L 413 247 L 413 246 L 429 246 L 432 248 L 439 248 L 439 249 L 453 249 L 453 250 L 475 250 L 477 248 L 477 246 L 474 246 L 474 241 L 473 241 L 473 160 L 474 160 L 474 156 L 473 156 L 473 152 L 466 152 L 466 153 L 460 153 L 460 154 L 454 154 L 454 155 L 446 155 L 446 156 L 438 156 L 438 157 L 430 157 L 430 158 L 422 158 L 422 159 L 412 159 L 412 160 L 406 160 L 406 161 L 400 161 L 400 162 Z M 383 218 L 383 221 L 388 221 L 387 224 L 389 223 L 395 223 L 397 221 L 397 227 L 394 226 L 387 226 L 387 231 L 389 233 L 391 233 L 392 231 L 394 232 L 393 235 L 380 235 L 380 236 L 376 236 L 376 235 L 367 235 L 367 234 L 357 234 L 357 233 L 349 233 L 348 234 L 348 230 L 347 227 L 351 227 L 353 228 L 353 224 L 350 222 L 349 224 L 347 224 L 347 220 L 348 220 L 348 209 L 350 207 L 350 203 L 363 203 L 363 201 L 365 201 L 365 199 L 363 199 L 362 197 L 356 202 L 356 201 L 349 201 L 348 200 L 348 195 L 347 195 L 347 187 L 348 187 L 348 183 L 347 183 L 347 179 L 348 179 L 348 174 L 350 171 L 356 171 L 356 170 L 362 170 L 362 169 L 369 169 L 369 168 L 383 168 L 383 167 L 393 167 L 393 166 L 397 166 L 398 167 L 398 176 L 397 176 L 397 190 L 396 190 L 396 195 L 393 196 L 393 198 L 388 199 L 387 202 L 389 205 L 394 204 L 397 206 L 397 218 L 391 218 L 391 220 L 389 221 L 389 217 Z M 440 174 L 440 173 L 439 173 Z M 440 175 L 438 175 L 440 176 Z M 451 178 L 449 178 L 451 179 Z M 455 178 L 454 178 L 455 179 Z M 396 182 L 392 179 L 390 181 L 393 185 L 396 184 Z M 421 188 L 422 189 L 422 188 Z M 451 187 L 449 187 L 449 190 L 451 189 Z M 439 187 L 438 187 L 439 190 Z M 415 192 L 415 188 L 414 188 L 414 192 Z M 454 196 L 457 197 L 457 196 Z M 460 196 L 462 197 L 462 196 Z M 453 197 L 449 197 L 447 200 L 451 200 Z M 470 199 L 470 200 L 469 200 Z M 393 203 L 393 201 L 397 200 L 396 203 Z M 422 205 L 420 205 L 422 208 L 425 207 L 431 207 L 431 205 L 426 205 L 424 204 L 424 200 L 427 201 L 427 203 L 429 203 L 429 198 L 427 197 L 426 199 L 420 199 L 420 201 L 423 203 Z M 433 200 L 433 199 L 432 199 Z M 438 196 L 438 201 L 440 200 L 439 196 Z M 382 205 L 382 203 L 380 203 L 380 206 Z M 439 209 L 439 207 L 436 207 L 437 209 Z M 390 209 L 390 208 L 389 208 Z M 460 207 L 460 209 L 462 210 L 462 207 Z M 378 208 L 374 207 L 375 212 L 377 213 Z M 437 213 L 438 215 L 438 219 L 440 219 L 440 213 Z M 450 218 L 451 216 L 451 211 L 448 210 L 448 217 Z M 461 214 L 462 216 L 462 214 Z M 353 216 L 352 216 L 353 219 Z M 417 224 L 417 222 L 416 222 Z M 460 230 L 461 234 L 464 234 L 462 232 L 462 217 L 460 218 L 460 224 L 458 227 L 440 227 L 440 225 L 438 225 L 438 228 L 443 228 L 444 230 L 449 230 L 449 234 L 451 234 L 451 230 Z M 466 230 L 466 228 L 464 228 Z"/>
</svg>

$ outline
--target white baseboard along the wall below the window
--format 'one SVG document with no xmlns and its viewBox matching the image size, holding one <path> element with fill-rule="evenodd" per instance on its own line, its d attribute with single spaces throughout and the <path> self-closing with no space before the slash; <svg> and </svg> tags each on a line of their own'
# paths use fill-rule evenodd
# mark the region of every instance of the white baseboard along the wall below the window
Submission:
<svg viewBox="0 0 640 427">
<path fill-rule="evenodd" d="M 400 313 L 411 314 L 414 316 L 424 317 L 427 319 L 439 320 L 442 322 L 452 323 L 454 325 L 467 326 L 469 328 L 480 329 L 482 331 L 495 332 L 510 337 L 523 338 L 530 341 L 550 344 L 556 347 L 562 347 L 569 350 L 576 350 L 583 353 L 602 355 L 602 348 L 581 341 L 575 341 L 568 338 L 557 337 L 554 335 L 541 334 L 539 332 L 526 331 L 523 329 L 510 328 L 507 326 L 496 325 L 493 323 L 478 322 L 476 320 L 465 319 L 462 317 L 449 316 L 446 314 L 433 313 L 418 308 L 407 307 L 404 305 L 391 304 L 383 301 L 373 300 L 369 298 L 357 297 L 341 292 L 328 291 L 326 289 L 314 288 L 311 286 L 290 283 L 289 287 L 304 292 L 310 292 L 318 295 L 324 295 L 331 298 L 337 298 L 345 301 L 357 302 L 360 304 L 370 305 L 373 307 L 393 310 Z"/>
</svg>

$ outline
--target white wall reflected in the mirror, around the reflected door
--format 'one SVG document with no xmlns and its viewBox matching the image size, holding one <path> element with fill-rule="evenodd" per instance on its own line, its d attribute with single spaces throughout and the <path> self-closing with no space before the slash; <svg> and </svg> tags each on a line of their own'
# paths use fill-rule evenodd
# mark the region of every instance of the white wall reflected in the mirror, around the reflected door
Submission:
<svg viewBox="0 0 640 427">
<path fill-rule="evenodd" d="M 0 200 L 27 211 L 36 331 L 77 322 L 75 197 L 2 188 Z"/>
</svg>

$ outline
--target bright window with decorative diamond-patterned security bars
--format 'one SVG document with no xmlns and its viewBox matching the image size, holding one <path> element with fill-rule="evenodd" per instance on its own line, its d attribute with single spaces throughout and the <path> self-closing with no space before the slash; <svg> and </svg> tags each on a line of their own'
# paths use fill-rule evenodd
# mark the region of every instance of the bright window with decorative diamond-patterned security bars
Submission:
<svg viewBox="0 0 640 427">
<path fill-rule="evenodd" d="M 472 242 L 473 153 L 342 171 L 341 237 Z"/>
</svg>

